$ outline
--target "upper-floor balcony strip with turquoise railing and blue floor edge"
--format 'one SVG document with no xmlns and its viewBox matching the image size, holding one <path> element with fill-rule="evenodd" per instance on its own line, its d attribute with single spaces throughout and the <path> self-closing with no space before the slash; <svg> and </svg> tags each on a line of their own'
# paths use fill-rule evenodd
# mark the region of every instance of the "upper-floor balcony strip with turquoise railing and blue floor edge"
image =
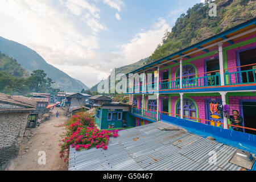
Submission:
<svg viewBox="0 0 256 182">
<path fill-rule="evenodd" d="M 234 88 L 248 88 L 248 86 L 256 85 L 256 63 L 242 65 L 224 69 L 224 85 L 221 85 L 220 70 L 188 74 L 181 77 L 175 77 L 165 80 L 159 79 L 156 82 L 144 83 L 140 81 L 134 83 L 133 87 L 127 88 L 127 94 L 142 94 L 142 93 L 169 93 L 169 92 L 193 92 L 201 89 L 210 90 L 225 90 Z M 145 79 L 146 80 L 146 79 Z M 181 80 L 181 81 L 180 81 Z M 250 88 L 250 87 L 249 87 Z"/>
</svg>

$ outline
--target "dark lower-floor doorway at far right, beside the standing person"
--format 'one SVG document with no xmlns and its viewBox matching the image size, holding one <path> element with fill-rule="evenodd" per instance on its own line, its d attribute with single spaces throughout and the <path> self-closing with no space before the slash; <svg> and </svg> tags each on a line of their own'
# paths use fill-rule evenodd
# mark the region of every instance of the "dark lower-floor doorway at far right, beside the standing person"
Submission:
<svg viewBox="0 0 256 182">
<path fill-rule="evenodd" d="M 242 101 L 243 122 L 245 127 L 256 129 L 256 101 Z M 245 129 L 245 133 L 256 135 L 256 131 Z"/>
</svg>

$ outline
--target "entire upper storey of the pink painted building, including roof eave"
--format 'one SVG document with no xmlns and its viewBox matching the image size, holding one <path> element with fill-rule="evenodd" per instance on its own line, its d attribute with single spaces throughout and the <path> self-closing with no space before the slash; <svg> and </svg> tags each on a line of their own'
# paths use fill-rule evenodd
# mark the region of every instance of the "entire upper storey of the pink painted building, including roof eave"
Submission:
<svg viewBox="0 0 256 182">
<path fill-rule="evenodd" d="M 127 73 L 140 79 L 129 82 L 126 94 L 253 91 L 255 72 L 252 19 Z"/>
</svg>

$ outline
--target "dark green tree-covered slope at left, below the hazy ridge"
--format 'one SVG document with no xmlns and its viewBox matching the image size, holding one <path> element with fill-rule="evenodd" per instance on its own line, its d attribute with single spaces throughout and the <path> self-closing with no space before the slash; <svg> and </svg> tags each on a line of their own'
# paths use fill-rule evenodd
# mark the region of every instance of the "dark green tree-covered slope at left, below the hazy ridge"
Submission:
<svg viewBox="0 0 256 182">
<path fill-rule="evenodd" d="M 43 70 L 35 70 L 29 76 L 26 69 L 20 67 L 15 59 L 0 53 L 0 92 L 13 95 L 28 92 L 60 92 L 60 89 L 52 88 L 54 82 L 46 76 Z"/>
</svg>

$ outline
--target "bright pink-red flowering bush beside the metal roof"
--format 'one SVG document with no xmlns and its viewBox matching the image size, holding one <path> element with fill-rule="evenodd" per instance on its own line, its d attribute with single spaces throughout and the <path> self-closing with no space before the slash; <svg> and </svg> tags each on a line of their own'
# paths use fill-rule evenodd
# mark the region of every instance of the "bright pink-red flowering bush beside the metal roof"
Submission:
<svg viewBox="0 0 256 182">
<path fill-rule="evenodd" d="M 118 137 L 118 130 L 106 131 L 97 129 L 94 123 L 94 117 L 89 113 L 77 113 L 67 123 L 67 134 L 63 143 L 60 143 L 60 158 L 64 158 L 67 152 L 67 160 L 69 155 L 69 146 L 71 145 L 76 150 L 88 150 L 89 148 L 103 148 L 107 150 L 109 137 Z"/>
</svg>

